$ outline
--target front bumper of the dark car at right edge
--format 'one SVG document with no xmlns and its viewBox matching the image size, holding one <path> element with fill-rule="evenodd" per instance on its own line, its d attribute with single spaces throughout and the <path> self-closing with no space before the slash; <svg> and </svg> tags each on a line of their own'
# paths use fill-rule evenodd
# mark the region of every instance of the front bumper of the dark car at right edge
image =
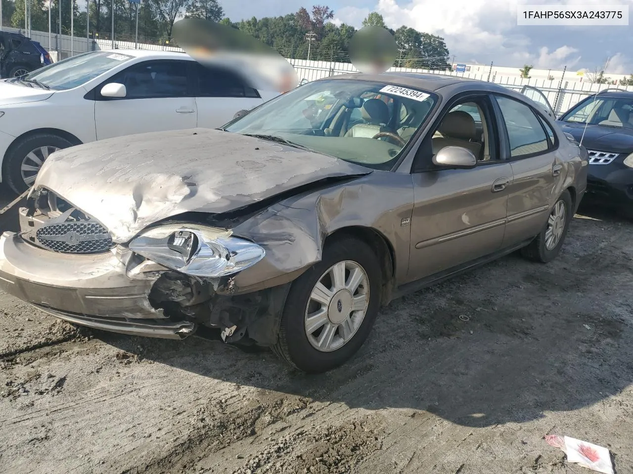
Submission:
<svg viewBox="0 0 633 474">
<path fill-rule="evenodd" d="M 633 212 L 633 168 L 619 163 L 590 164 L 585 199 Z"/>
</svg>

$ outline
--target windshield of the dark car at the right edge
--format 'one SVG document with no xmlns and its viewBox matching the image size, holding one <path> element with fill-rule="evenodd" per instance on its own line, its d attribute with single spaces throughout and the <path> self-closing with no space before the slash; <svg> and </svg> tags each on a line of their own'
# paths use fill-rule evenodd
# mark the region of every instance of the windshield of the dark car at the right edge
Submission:
<svg viewBox="0 0 633 474">
<path fill-rule="evenodd" d="M 580 102 L 561 120 L 615 128 L 633 128 L 633 99 L 624 97 L 591 97 Z"/>
</svg>

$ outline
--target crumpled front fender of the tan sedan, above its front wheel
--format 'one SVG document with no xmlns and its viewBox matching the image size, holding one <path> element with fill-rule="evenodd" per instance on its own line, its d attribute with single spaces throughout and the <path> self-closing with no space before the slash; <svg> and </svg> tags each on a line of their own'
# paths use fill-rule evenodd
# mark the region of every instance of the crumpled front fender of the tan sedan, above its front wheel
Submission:
<svg viewBox="0 0 633 474">
<path fill-rule="evenodd" d="M 370 228 L 394 250 L 396 281 L 406 276 L 413 211 L 410 174 L 378 171 L 351 183 L 288 198 L 233 229 L 266 250 L 253 267 L 237 274 L 235 293 L 289 283 L 321 260 L 325 239 L 344 228 Z"/>
</svg>

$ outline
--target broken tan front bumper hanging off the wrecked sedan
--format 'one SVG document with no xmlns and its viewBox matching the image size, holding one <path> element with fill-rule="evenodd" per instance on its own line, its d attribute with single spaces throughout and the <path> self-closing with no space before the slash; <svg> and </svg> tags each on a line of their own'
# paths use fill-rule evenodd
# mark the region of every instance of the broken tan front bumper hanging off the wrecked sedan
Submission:
<svg viewBox="0 0 633 474">
<path fill-rule="evenodd" d="M 158 274 L 130 278 L 114 252 L 72 255 L 42 250 L 18 234 L 0 236 L 0 289 L 75 324 L 135 336 L 182 339 L 196 330 L 153 308 Z"/>
</svg>

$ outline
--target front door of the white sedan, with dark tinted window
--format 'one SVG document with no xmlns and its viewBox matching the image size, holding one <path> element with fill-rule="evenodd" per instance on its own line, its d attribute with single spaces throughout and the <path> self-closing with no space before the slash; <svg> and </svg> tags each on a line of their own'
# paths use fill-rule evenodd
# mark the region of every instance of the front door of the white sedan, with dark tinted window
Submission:
<svg viewBox="0 0 633 474">
<path fill-rule="evenodd" d="M 97 140 L 196 127 L 196 99 L 189 81 L 192 61 L 160 59 L 132 64 L 97 86 L 94 121 Z M 108 83 L 125 85 L 122 98 L 103 97 Z"/>
</svg>

